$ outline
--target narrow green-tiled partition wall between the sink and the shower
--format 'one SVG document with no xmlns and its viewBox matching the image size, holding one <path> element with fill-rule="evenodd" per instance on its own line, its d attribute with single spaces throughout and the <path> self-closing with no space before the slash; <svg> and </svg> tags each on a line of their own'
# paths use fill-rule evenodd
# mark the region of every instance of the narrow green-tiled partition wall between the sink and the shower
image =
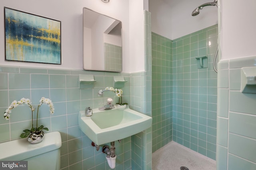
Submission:
<svg viewBox="0 0 256 170">
<path fill-rule="evenodd" d="M 131 109 L 151 116 L 151 14 L 144 11 L 145 71 L 131 73 Z M 132 136 L 132 170 L 152 170 L 151 127 Z"/>
</svg>

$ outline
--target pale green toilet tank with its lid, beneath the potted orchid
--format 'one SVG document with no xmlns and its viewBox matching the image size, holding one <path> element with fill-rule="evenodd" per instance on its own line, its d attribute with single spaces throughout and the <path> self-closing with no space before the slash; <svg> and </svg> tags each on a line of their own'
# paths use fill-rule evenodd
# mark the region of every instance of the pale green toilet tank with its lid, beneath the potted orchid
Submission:
<svg viewBox="0 0 256 170">
<path fill-rule="evenodd" d="M 0 161 L 28 161 L 28 170 L 60 170 L 59 132 L 44 134 L 44 140 L 31 144 L 27 138 L 0 143 Z"/>
</svg>

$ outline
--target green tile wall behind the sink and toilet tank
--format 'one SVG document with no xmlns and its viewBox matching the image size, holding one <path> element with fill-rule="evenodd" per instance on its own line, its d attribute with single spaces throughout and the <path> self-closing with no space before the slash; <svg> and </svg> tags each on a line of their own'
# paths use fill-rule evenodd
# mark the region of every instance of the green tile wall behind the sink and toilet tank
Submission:
<svg viewBox="0 0 256 170">
<path fill-rule="evenodd" d="M 122 90 L 124 90 L 123 101 L 130 104 L 130 73 L 120 74 L 4 65 L 0 65 L 0 70 L 0 112 L 2 113 L 2 118 L 0 119 L 0 142 L 18 139 L 20 133 L 22 133 L 20 129 L 30 129 L 31 126 L 31 113 L 26 106 L 18 106 L 17 109 L 13 109 L 10 121 L 4 119 L 4 111 L 10 103 L 13 100 L 20 100 L 20 98 L 24 97 L 30 98 L 32 104 L 36 107 L 40 98 L 44 96 L 52 100 L 55 112 L 50 115 L 48 107 L 42 105 L 39 111 L 38 123 L 48 127 L 50 131 L 59 131 L 61 133 L 61 169 L 110 169 L 105 155 L 100 151 L 96 151 L 96 148 L 91 146 L 90 139 L 78 128 L 78 112 L 88 106 L 98 108 L 105 103 L 107 97 L 114 97 L 114 94 L 110 93 L 104 94 L 104 97 L 99 97 L 97 93 L 98 90 L 107 86 L 113 86 L 113 76 L 118 75 L 123 75 L 125 80 L 128 81 Z M 79 89 L 79 74 L 93 74 L 94 79 L 97 80 L 95 87 Z M 115 98 L 115 100 L 117 99 Z M 122 143 L 115 143 L 116 169 L 131 169 L 132 149 L 136 149 L 135 152 L 138 152 L 137 148 L 131 147 L 132 138 L 137 139 L 137 136 L 144 140 L 143 137 L 148 137 L 148 132 L 145 131 L 136 135 L 136 137 L 123 139 Z M 148 139 L 146 144 L 151 142 L 149 137 L 145 138 Z M 143 147 L 146 148 L 146 145 L 142 145 L 142 150 L 144 149 Z M 146 152 L 146 149 L 144 150 Z M 140 154 L 141 156 L 142 153 Z M 135 160 L 138 161 L 141 158 L 135 158 Z"/>
</svg>

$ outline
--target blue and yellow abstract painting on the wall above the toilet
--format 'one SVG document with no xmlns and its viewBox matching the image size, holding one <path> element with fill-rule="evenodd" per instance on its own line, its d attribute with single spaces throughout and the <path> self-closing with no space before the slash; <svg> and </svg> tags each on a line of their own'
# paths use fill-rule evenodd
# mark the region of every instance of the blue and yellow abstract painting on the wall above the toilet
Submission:
<svg viewBox="0 0 256 170">
<path fill-rule="evenodd" d="M 61 64 L 60 21 L 4 8 L 5 59 Z"/>
</svg>

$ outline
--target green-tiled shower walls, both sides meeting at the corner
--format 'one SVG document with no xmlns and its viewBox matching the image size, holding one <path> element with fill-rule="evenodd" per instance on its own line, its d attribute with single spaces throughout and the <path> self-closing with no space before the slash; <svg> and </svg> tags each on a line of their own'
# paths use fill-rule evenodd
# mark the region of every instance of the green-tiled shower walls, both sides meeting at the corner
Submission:
<svg viewBox="0 0 256 170">
<path fill-rule="evenodd" d="M 216 159 L 217 35 L 217 25 L 174 40 L 152 33 L 153 152 L 173 140 Z"/>
</svg>

